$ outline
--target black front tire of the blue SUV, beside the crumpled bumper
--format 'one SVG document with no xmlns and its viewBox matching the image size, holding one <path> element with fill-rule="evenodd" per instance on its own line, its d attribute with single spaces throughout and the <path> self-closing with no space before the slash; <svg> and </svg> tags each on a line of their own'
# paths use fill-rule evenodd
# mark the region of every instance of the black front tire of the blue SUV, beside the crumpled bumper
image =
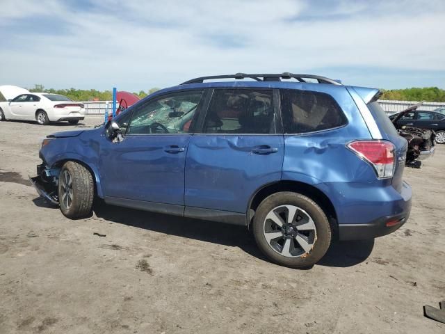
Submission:
<svg viewBox="0 0 445 334">
<path fill-rule="evenodd" d="M 66 173 L 71 182 L 65 181 Z M 90 171 L 74 161 L 66 162 L 60 170 L 58 180 L 58 201 L 63 215 L 72 219 L 89 216 L 94 194 L 95 187 Z"/>
</svg>

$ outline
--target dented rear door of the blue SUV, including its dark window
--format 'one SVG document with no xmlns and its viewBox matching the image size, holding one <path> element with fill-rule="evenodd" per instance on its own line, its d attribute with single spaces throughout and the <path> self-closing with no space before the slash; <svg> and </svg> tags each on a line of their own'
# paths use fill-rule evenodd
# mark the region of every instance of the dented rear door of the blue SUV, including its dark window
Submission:
<svg viewBox="0 0 445 334">
<path fill-rule="evenodd" d="M 193 207 L 245 214 L 257 189 L 281 180 L 278 100 L 272 89 L 211 91 L 202 133 L 188 145 L 186 214 Z"/>
</svg>

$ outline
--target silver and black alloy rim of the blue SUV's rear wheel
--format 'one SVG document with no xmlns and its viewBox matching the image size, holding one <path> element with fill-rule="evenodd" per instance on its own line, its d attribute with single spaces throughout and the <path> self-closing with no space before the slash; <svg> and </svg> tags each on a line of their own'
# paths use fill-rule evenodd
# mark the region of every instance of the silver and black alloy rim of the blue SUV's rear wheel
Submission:
<svg viewBox="0 0 445 334">
<path fill-rule="evenodd" d="M 264 220 L 264 237 L 270 248 L 285 257 L 304 257 L 317 239 L 314 220 L 295 205 L 280 205 Z"/>
</svg>

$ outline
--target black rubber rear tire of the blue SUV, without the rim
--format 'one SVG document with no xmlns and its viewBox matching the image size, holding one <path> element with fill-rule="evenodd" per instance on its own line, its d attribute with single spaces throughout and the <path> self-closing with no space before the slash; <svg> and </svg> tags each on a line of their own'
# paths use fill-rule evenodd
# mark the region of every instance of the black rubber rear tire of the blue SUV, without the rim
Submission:
<svg viewBox="0 0 445 334">
<path fill-rule="evenodd" d="M 268 232 L 266 232 L 268 226 L 274 225 L 274 223 L 270 223 L 270 219 L 266 219 L 266 216 L 268 216 L 268 214 L 270 214 L 271 212 L 277 212 L 274 210 L 277 208 L 278 210 L 280 210 L 280 207 L 284 206 L 286 206 L 286 209 L 287 207 L 298 207 L 298 209 L 302 209 L 302 212 L 305 212 L 305 214 L 307 214 L 306 217 L 309 217 L 306 218 L 305 221 L 310 221 L 310 219 L 312 219 L 313 223 L 311 224 L 314 225 L 315 228 L 310 232 L 300 230 L 298 230 L 297 232 L 296 229 L 298 228 L 297 225 L 299 224 L 297 219 L 303 219 L 302 216 L 305 216 L 304 214 L 300 214 L 300 211 L 297 211 L 298 214 L 293 215 L 295 217 L 293 225 L 289 224 L 291 227 L 291 232 L 289 232 L 291 233 L 290 235 L 287 234 L 287 231 L 289 230 L 286 230 L 286 228 L 278 228 L 277 224 L 275 224 L 275 230 L 269 230 Z M 284 211 L 286 211 L 286 209 Z M 305 221 L 302 222 L 304 223 Z M 300 193 L 280 192 L 268 196 L 260 203 L 257 212 L 255 213 L 252 225 L 254 238 L 255 241 L 257 241 L 259 249 L 271 261 L 285 267 L 307 269 L 314 266 L 314 264 L 321 260 L 323 255 L 325 255 L 332 239 L 332 230 L 330 227 L 330 223 L 327 220 L 327 216 L 325 212 L 323 212 L 323 209 L 321 209 L 321 207 L 316 202 L 314 202 L 314 200 Z M 292 226 L 294 227 L 292 228 Z M 283 236 L 278 236 L 277 239 L 273 239 L 273 241 L 267 241 L 266 235 L 269 232 L 273 232 L 274 235 L 282 233 Z M 298 239 L 297 234 L 300 234 L 301 236 L 306 233 L 308 243 L 305 244 L 305 246 L 308 248 L 312 247 L 307 250 L 307 252 L 303 249 L 304 247 L 300 247 L 300 244 L 298 244 L 298 241 L 296 241 Z M 304 235 L 304 237 L 306 236 Z M 279 253 L 279 250 L 281 247 L 281 251 L 284 252 L 284 243 L 288 242 L 287 239 L 289 239 L 289 244 L 292 244 L 291 248 L 289 248 L 291 249 L 291 252 L 289 252 L 289 256 L 284 256 Z M 280 243 L 282 244 L 282 246 L 280 246 Z M 274 244 L 274 246 L 272 246 L 272 244 Z M 300 254 L 298 255 L 298 253 Z"/>
</svg>

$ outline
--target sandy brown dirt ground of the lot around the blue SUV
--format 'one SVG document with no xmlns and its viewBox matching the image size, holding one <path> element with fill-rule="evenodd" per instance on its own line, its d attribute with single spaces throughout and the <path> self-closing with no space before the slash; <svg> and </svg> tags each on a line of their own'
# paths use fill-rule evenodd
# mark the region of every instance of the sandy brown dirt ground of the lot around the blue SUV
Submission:
<svg viewBox="0 0 445 334">
<path fill-rule="evenodd" d="M 298 271 L 236 226 L 105 205 L 68 220 L 27 175 L 42 138 L 72 128 L 0 122 L 1 334 L 445 333 L 422 310 L 445 299 L 445 146 L 405 169 L 403 228 Z"/>
</svg>

